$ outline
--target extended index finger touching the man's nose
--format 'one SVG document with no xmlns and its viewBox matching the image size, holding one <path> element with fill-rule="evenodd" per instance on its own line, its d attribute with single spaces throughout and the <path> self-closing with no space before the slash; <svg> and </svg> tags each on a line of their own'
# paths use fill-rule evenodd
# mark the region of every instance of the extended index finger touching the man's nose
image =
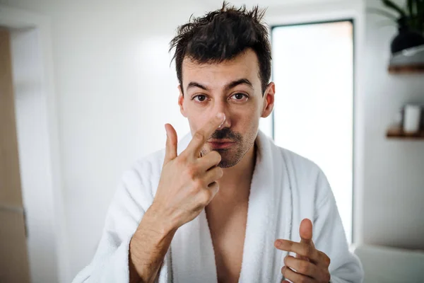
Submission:
<svg viewBox="0 0 424 283">
<path fill-rule="evenodd" d="M 220 125 L 222 125 L 224 121 L 224 113 L 219 112 L 215 117 L 206 122 L 204 127 L 194 133 L 192 141 L 190 141 L 189 145 L 187 146 L 187 149 L 185 149 L 184 152 L 187 152 L 192 156 L 198 157 L 201 147 L 204 146 L 205 142 L 207 141 L 209 136 L 211 136 L 213 131 L 220 127 Z"/>
</svg>

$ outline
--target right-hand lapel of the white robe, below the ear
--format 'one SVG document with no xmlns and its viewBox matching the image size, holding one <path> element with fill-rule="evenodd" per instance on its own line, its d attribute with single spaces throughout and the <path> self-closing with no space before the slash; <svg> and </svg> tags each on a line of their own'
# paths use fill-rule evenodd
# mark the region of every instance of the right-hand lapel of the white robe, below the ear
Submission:
<svg viewBox="0 0 424 283">
<path fill-rule="evenodd" d="M 277 238 L 290 239 L 292 201 L 287 167 L 280 149 L 262 132 L 257 138 L 257 163 L 247 212 L 240 283 L 281 282 L 283 258 Z"/>
</svg>

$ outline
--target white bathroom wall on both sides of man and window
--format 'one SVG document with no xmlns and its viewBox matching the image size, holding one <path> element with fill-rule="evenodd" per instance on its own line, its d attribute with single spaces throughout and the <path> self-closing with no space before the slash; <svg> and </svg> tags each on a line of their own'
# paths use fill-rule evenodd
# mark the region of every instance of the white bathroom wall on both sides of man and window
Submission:
<svg viewBox="0 0 424 283">
<path fill-rule="evenodd" d="M 341 1 L 348 9 L 351 1 Z M 362 2 L 362 1 L 355 1 Z M 201 1 L 53 1 L 0 0 L 51 18 L 54 76 L 61 150 L 61 172 L 71 281 L 92 258 L 122 172 L 165 144 L 165 122 L 178 134 L 188 132 L 177 108 L 177 79 L 168 42 L 177 25 L 219 4 Z M 207 6 L 206 6 L 207 5 Z M 319 5 L 334 18 L 343 5 Z M 272 21 L 302 13 L 308 21 L 319 8 L 290 8 Z M 315 11 L 314 11 L 315 10 Z M 297 11 L 297 12 L 296 12 Z M 349 13 L 348 13 L 349 14 Z M 399 106 L 422 99 L 420 76 L 389 76 L 387 54 L 393 28 L 378 30 L 367 18 L 367 48 L 360 53 L 358 129 L 355 138 L 359 176 L 357 241 L 423 248 L 424 143 L 388 141 L 384 132 Z M 370 23 L 368 23 L 370 22 Z M 365 29 L 364 29 L 365 30 Z M 360 39 L 358 39 L 360 40 Z M 421 100 L 422 101 L 422 100 Z M 422 162 L 421 162 L 422 163 Z M 399 200 L 403 202 L 399 202 Z M 365 216 L 363 216 L 365 215 Z"/>
</svg>

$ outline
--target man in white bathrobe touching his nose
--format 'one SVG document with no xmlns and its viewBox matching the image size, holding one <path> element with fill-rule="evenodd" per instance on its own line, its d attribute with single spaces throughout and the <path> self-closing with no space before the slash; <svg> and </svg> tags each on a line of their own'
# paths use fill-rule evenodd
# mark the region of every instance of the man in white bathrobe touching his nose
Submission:
<svg viewBox="0 0 424 283">
<path fill-rule="evenodd" d="M 224 4 L 179 27 L 193 135 L 178 143 L 165 125 L 165 150 L 124 176 L 74 282 L 362 281 L 322 171 L 259 132 L 275 94 L 263 16 Z"/>
</svg>

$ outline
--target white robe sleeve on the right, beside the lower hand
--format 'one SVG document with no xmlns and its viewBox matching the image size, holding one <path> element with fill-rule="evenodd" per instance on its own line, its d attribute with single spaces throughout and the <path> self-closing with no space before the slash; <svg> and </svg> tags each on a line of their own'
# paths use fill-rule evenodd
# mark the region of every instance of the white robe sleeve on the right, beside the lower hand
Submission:
<svg viewBox="0 0 424 283">
<path fill-rule="evenodd" d="M 331 283 L 363 282 L 360 260 L 348 249 L 346 233 L 338 214 L 336 200 L 324 173 L 317 178 L 317 206 L 313 238 L 315 248 L 326 253 L 331 263 Z"/>
</svg>

